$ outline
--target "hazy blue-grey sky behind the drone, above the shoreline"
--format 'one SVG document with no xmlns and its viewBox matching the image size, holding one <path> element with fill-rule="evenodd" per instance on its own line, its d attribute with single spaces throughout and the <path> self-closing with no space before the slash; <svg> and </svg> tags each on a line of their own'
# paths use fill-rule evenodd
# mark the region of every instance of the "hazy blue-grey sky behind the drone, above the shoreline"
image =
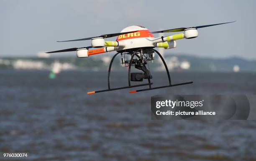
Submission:
<svg viewBox="0 0 256 161">
<path fill-rule="evenodd" d="M 90 40 L 56 40 L 115 33 L 131 25 L 157 31 L 237 20 L 199 29 L 197 38 L 177 40 L 177 48 L 165 53 L 256 59 L 255 7 L 256 0 L 0 0 L 0 57 L 89 46 Z"/>
</svg>

